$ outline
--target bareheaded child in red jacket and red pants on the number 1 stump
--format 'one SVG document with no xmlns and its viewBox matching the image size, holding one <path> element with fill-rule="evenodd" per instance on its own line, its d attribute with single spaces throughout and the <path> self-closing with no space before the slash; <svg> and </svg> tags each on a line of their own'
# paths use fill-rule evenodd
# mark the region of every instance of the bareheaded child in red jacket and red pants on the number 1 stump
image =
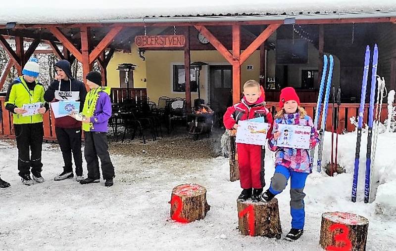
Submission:
<svg viewBox="0 0 396 251">
<path fill-rule="evenodd" d="M 227 129 L 237 129 L 238 121 L 264 117 L 264 122 L 272 125 L 272 114 L 265 108 L 264 89 L 255 80 L 244 84 L 244 97 L 240 103 L 227 109 L 223 122 Z M 269 132 L 271 131 L 268 130 Z M 267 135 L 267 138 L 270 134 Z M 264 180 L 265 148 L 260 145 L 237 143 L 238 164 L 242 193 L 239 200 L 260 201 Z M 252 191 L 253 189 L 253 191 Z"/>
</svg>

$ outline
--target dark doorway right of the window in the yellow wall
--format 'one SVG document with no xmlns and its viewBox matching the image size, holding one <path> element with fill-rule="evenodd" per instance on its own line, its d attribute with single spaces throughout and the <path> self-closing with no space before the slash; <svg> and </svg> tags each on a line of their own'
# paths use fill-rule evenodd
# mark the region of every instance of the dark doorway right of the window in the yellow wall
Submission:
<svg viewBox="0 0 396 251">
<path fill-rule="evenodd" d="M 232 105 L 232 66 L 209 67 L 210 107 L 218 116 L 223 116 Z"/>
</svg>

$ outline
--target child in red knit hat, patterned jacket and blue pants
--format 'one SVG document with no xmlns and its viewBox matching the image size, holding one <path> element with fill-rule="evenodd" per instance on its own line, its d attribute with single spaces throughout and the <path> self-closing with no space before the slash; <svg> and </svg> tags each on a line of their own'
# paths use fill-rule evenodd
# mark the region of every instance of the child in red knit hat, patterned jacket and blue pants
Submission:
<svg viewBox="0 0 396 251">
<path fill-rule="evenodd" d="M 281 193 L 291 179 L 290 186 L 290 211 L 292 215 L 292 229 L 286 235 L 290 241 L 297 240 L 303 233 L 305 211 L 303 193 L 305 180 L 312 167 L 309 161 L 308 149 L 278 147 L 277 139 L 284 140 L 285 132 L 278 129 L 279 124 L 310 126 L 309 147 L 313 148 L 319 142 L 319 135 L 313 126 L 312 119 L 306 115 L 305 110 L 299 106 L 300 101 L 293 87 L 283 88 L 280 95 L 279 108 L 275 116 L 273 132 L 268 140 L 269 148 L 276 151 L 275 174 L 271 179 L 271 185 L 262 195 L 268 202 L 275 195 Z"/>
</svg>

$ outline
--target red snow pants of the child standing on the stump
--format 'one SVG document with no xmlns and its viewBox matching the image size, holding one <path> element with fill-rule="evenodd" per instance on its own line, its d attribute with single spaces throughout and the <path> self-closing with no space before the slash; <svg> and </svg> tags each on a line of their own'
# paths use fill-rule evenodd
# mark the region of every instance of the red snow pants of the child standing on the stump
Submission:
<svg viewBox="0 0 396 251">
<path fill-rule="evenodd" d="M 262 146 L 237 143 L 237 152 L 241 187 L 262 188 L 265 185 Z"/>
</svg>

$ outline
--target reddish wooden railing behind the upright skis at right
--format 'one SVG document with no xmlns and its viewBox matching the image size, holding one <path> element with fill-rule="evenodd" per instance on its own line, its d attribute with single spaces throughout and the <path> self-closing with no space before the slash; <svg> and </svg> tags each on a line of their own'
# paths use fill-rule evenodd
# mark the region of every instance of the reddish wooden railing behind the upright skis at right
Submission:
<svg viewBox="0 0 396 251">
<path fill-rule="evenodd" d="M 266 106 L 273 113 L 275 113 L 276 111 L 279 110 L 279 103 L 277 103 L 277 102 L 267 102 Z M 315 112 L 316 112 L 316 103 L 301 103 L 300 106 L 305 109 L 308 116 L 310 116 L 312 118 L 312 120 L 315 119 L 314 117 L 315 117 Z M 338 124 L 338 128 L 336 130 L 338 133 L 342 133 L 344 131 L 344 129 L 347 132 L 351 132 L 355 129 L 355 126 L 349 122 L 349 118 L 351 118 L 352 116 L 355 118 L 358 117 L 359 106 L 360 106 L 360 104 L 347 104 L 347 103 L 341 104 L 341 106 L 339 108 L 340 109 L 339 124 Z M 323 104 L 322 104 L 322 107 L 323 107 Z M 369 104 L 365 104 L 364 113 L 363 113 L 363 123 L 366 123 L 366 124 L 368 124 L 368 120 L 367 120 L 368 107 L 369 107 Z M 321 110 L 323 112 L 323 109 L 321 109 Z M 332 111 L 333 111 L 332 104 L 329 104 L 328 110 L 327 110 L 327 119 L 326 119 L 326 130 L 327 131 L 332 130 Z M 337 112 L 337 108 L 335 108 L 334 111 Z M 380 121 L 382 123 L 384 123 L 384 121 L 387 119 L 387 117 L 388 117 L 388 104 L 383 104 L 382 109 L 381 109 L 381 120 Z M 321 125 L 321 123 L 322 123 L 322 121 L 319 120 L 318 125 Z M 334 123 L 334 125 L 335 125 L 335 123 Z M 363 124 L 363 126 L 364 126 L 364 124 Z M 320 127 L 320 126 L 318 126 L 318 127 Z"/>
</svg>

